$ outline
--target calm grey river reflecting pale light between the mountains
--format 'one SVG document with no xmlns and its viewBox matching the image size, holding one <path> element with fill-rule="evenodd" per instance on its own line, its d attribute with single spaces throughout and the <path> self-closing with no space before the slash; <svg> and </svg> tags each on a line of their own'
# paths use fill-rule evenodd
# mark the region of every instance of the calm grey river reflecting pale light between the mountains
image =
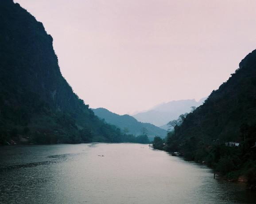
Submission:
<svg viewBox="0 0 256 204">
<path fill-rule="evenodd" d="M 0 147 L 4 204 L 256 203 L 255 194 L 143 144 Z"/>
</svg>

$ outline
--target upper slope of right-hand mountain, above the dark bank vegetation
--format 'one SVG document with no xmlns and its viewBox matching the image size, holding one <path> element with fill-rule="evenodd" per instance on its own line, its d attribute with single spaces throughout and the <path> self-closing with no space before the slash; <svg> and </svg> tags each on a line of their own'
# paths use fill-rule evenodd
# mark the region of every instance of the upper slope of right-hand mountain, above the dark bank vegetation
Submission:
<svg viewBox="0 0 256 204">
<path fill-rule="evenodd" d="M 256 50 L 239 64 L 239 69 L 213 91 L 205 103 L 188 114 L 178 135 L 197 135 L 206 143 L 240 140 L 240 126 L 256 123 Z"/>
</svg>

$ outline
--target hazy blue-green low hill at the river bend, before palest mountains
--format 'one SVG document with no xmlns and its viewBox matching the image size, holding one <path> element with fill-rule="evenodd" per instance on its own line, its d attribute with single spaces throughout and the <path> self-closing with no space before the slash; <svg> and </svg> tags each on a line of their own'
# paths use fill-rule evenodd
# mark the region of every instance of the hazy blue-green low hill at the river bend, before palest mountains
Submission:
<svg viewBox="0 0 256 204">
<path fill-rule="evenodd" d="M 130 134 L 135 136 L 141 135 L 144 128 L 147 129 L 147 135 L 150 138 L 153 138 L 156 135 L 160 137 L 165 137 L 167 135 L 167 131 L 149 123 L 141 123 L 129 115 L 118 115 L 104 108 L 93 109 L 93 112 L 98 117 L 105 119 L 107 123 L 116 125 L 123 131 L 126 129 Z"/>
</svg>

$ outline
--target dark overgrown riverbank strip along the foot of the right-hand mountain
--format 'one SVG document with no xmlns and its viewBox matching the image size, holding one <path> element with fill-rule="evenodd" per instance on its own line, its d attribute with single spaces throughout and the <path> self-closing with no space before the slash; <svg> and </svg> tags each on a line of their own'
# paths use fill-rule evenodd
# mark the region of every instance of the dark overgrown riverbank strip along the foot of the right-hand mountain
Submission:
<svg viewBox="0 0 256 204">
<path fill-rule="evenodd" d="M 170 143 L 167 139 L 167 142 Z M 240 147 L 228 147 L 225 144 L 212 145 L 196 149 L 182 149 L 164 143 L 155 138 L 155 149 L 171 152 L 179 152 L 186 161 L 194 161 L 204 164 L 220 175 L 223 180 L 232 182 L 244 182 L 248 190 L 256 190 L 256 161 L 254 149 L 249 149 L 244 143 Z M 192 146 L 191 146 L 192 147 Z M 190 151 L 188 151 L 190 150 Z"/>
</svg>

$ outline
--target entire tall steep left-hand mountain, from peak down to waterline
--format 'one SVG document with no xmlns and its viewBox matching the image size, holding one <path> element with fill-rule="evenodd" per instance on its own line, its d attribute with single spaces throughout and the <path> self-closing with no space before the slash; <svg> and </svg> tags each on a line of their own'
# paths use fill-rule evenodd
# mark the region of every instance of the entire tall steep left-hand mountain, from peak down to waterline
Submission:
<svg viewBox="0 0 256 204">
<path fill-rule="evenodd" d="M 0 143 L 120 141 L 63 78 L 53 39 L 12 0 L 0 1 Z"/>
</svg>

